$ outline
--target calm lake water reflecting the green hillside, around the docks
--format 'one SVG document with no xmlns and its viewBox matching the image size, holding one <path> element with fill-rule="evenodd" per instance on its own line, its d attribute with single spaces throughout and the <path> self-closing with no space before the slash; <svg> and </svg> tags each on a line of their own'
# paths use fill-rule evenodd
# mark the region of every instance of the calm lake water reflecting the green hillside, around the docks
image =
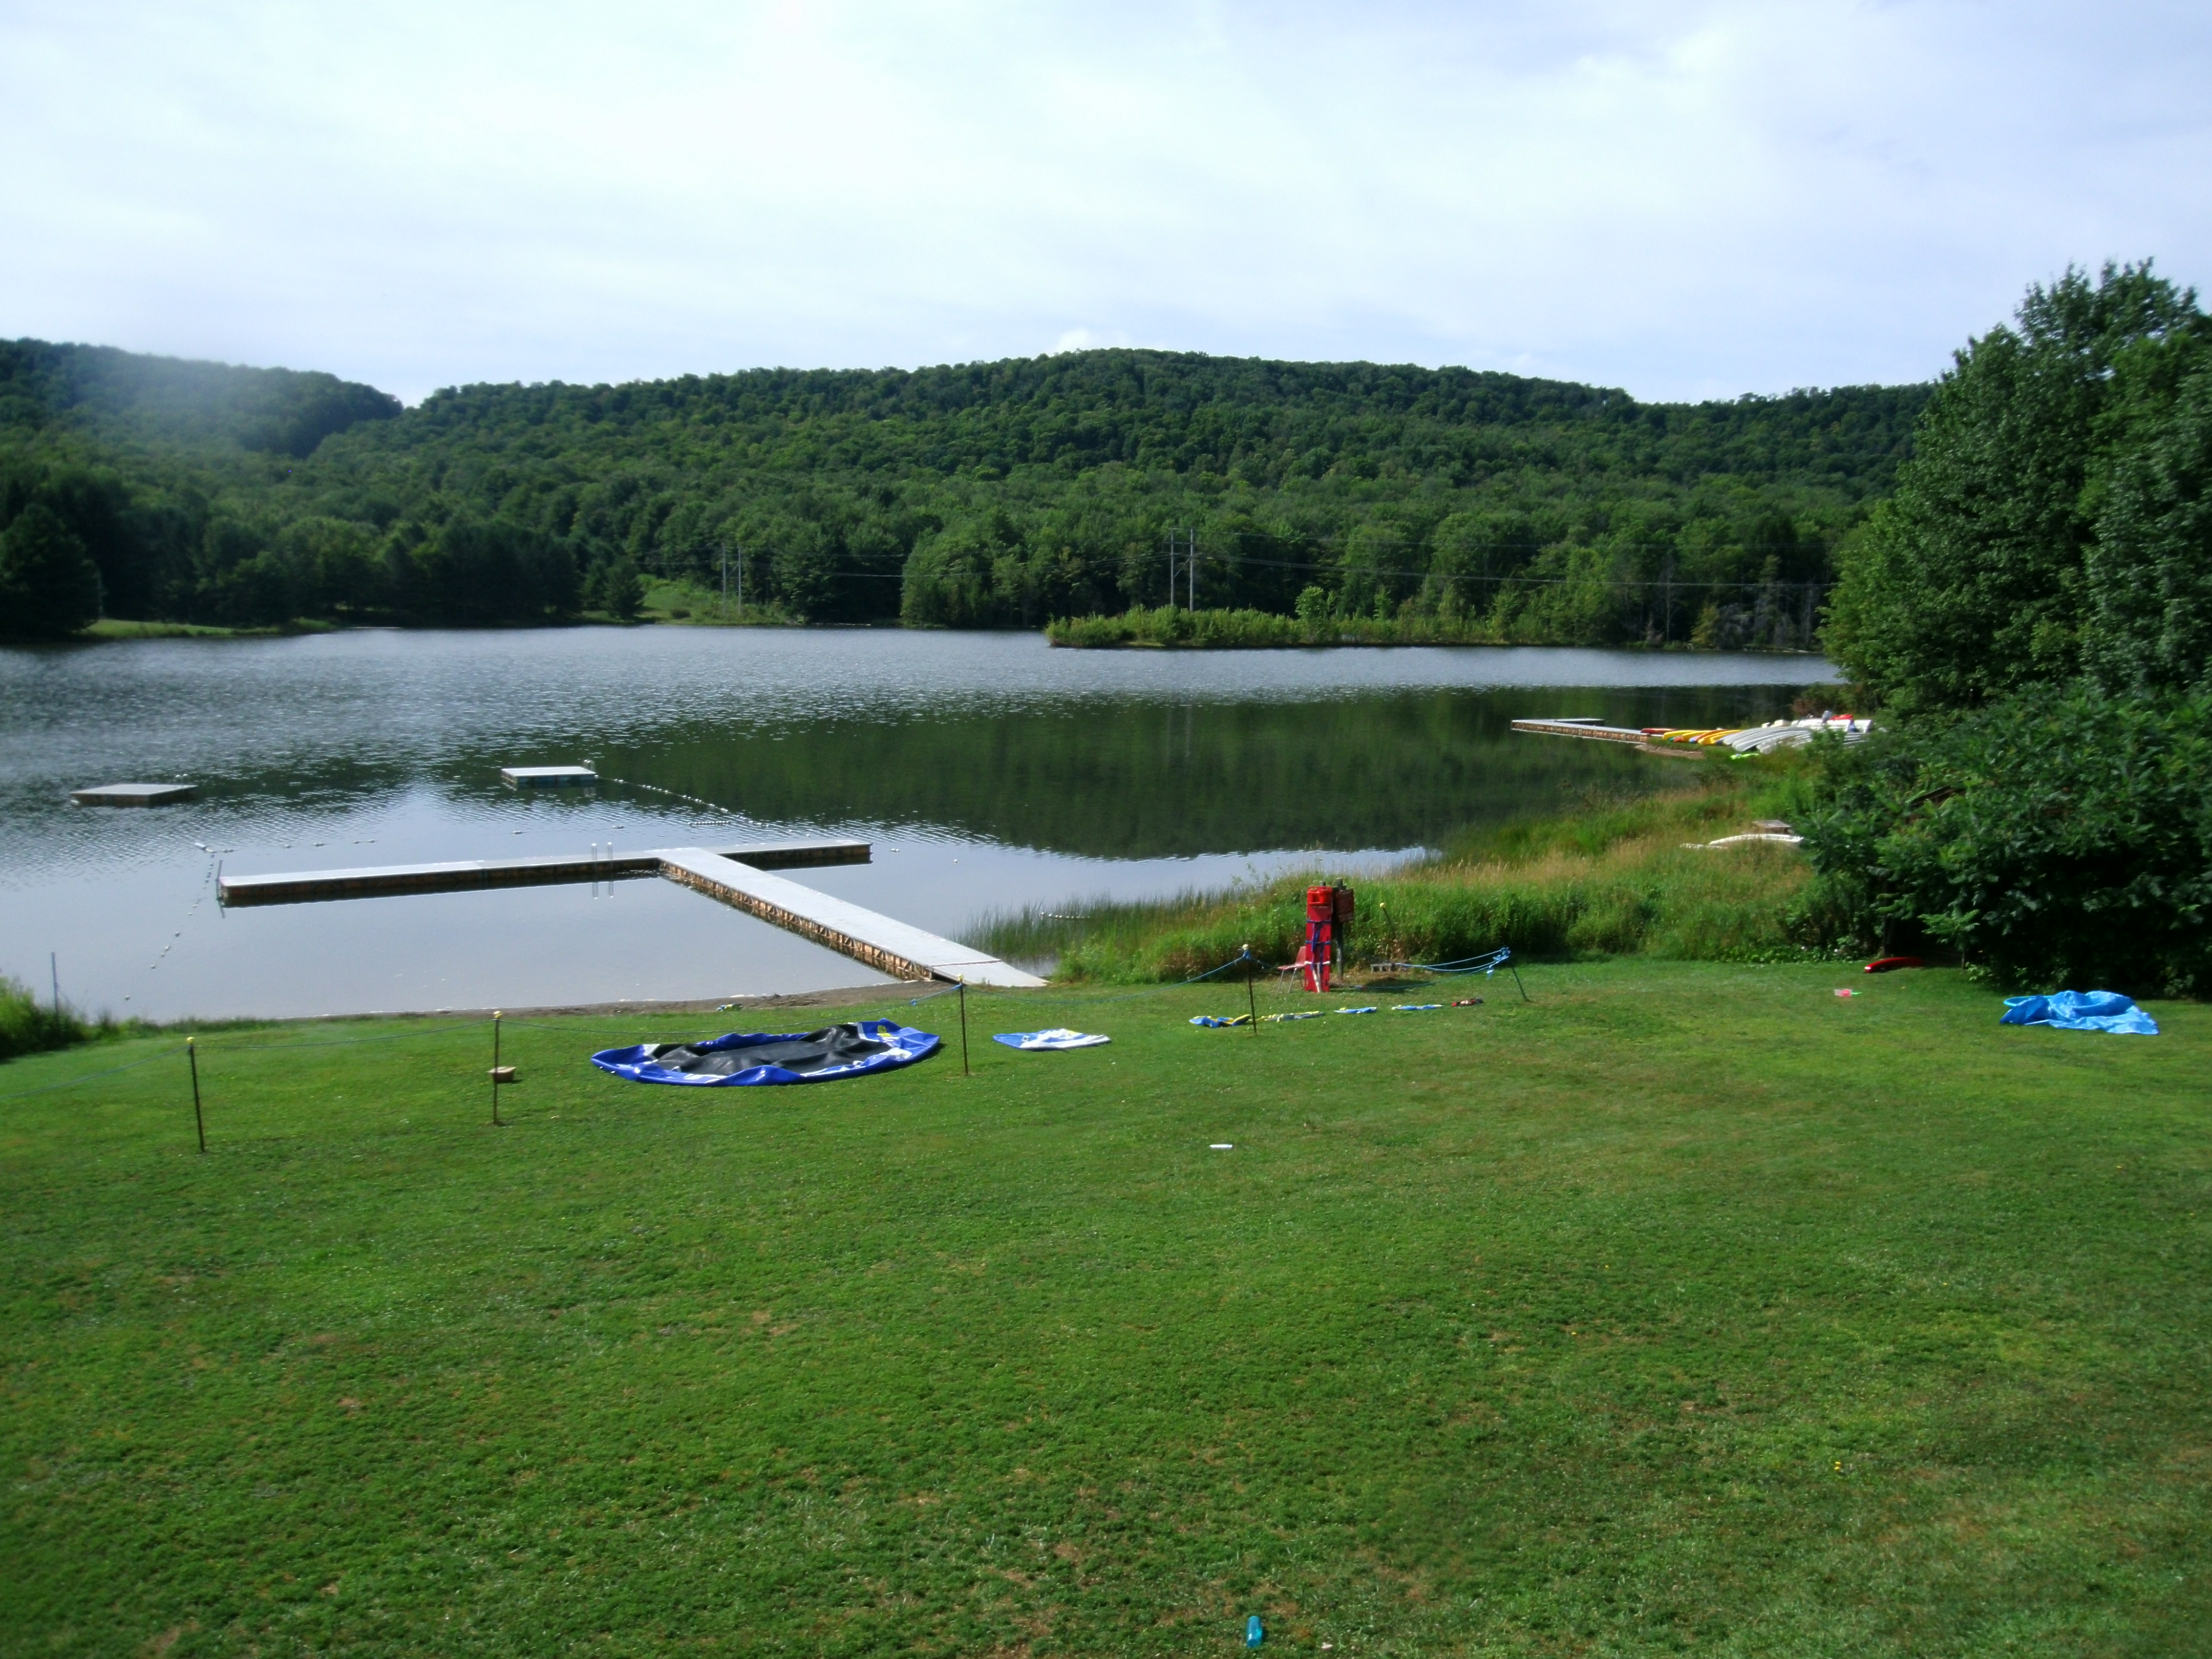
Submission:
<svg viewBox="0 0 2212 1659">
<path fill-rule="evenodd" d="M 1668 761 L 1524 714 L 1772 719 L 1807 657 L 1075 653 L 1035 635 L 568 628 L 0 650 L 0 973 L 119 1015 L 869 984 L 664 880 L 221 911 L 228 874 L 865 836 L 794 878 L 958 938 L 989 909 L 1358 872 Z M 595 792 L 502 765 L 588 761 Z M 159 810 L 73 787 L 190 779 Z M 635 785 L 714 803 L 686 807 Z"/>
</svg>

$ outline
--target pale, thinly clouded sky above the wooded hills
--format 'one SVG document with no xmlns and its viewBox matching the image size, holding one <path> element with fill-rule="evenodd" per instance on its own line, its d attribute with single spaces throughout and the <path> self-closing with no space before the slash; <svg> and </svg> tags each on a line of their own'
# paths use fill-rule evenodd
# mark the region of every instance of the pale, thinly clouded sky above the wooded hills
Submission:
<svg viewBox="0 0 2212 1659">
<path fill-rule="evenodd" d="M 0 336 L 478 380 L 1086 345 L 1708 398 L 2212 290 L 2212 7 L 0 4 Z"/>
</svg>

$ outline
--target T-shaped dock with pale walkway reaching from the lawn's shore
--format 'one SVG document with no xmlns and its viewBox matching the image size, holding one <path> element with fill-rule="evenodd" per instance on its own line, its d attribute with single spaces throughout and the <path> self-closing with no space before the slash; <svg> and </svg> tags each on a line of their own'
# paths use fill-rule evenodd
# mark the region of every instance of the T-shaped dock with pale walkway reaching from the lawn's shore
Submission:
<svg viewBox="0 0 2212 1659">
<path fill-rule="evenodd" d="M 721 900 L 763 922 L 827 945 L 896 980 L 964 980 L 1035 991 L 1035 973 L 1000 962 L 843 898 L 774 876 L 774 869 L 865 865 L 865 841 L 781 841 L 765 847 L 661 847 L 606 858 L 456 858 L 438 865 L 372 865 L 365 869 L 303 869 L 283 876 L 221 876 L 223 905 L 310 905 L 327 898 L 394 894 L 458 894 L 480 887 L 544 887 L 577 880 L 661 876 Z"/>
</svg>

